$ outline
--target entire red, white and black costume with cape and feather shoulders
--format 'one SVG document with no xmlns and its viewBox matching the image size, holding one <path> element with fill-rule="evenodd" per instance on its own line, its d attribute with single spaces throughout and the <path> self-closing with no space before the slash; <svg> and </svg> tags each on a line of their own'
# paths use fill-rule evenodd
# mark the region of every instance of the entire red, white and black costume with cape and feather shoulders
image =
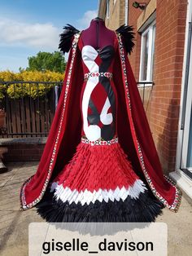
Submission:
<svg viewBox="0 0 192 256">
<path fill-rule="evenodd" d="M 116 33 L 119 33 L 119 40 Z M 151 149 L 155 151 L 151 152 L 151 157 L 152 155 L 155 157 L 157 170 L 158 168 L 160 170 L 159 173 L 157 171 L 157 175 L 151 174 L 151 177 L 153 175 L 155 177 L 153 182 L 144 167 L 144 163 L 147 166 L 148 160 L 144 157 L 145 162 L 141 161 L 142 154 L 146 152 L 145 148 L 141 150 L 139 147 L 137 139 L 139 133 L 136 134 L 135 126 L 131 123 L 133 110 L 127 109 L 131 103 L 129 101 L 129 104 L 126 104 L 126 97 L 128 95 L 130 100 L 130 95 L 128 90 L 126 93 L 123 91 L 123 86 L 119 89 L 120 84 L 125 85 L 126 89 L 126 71 L 131 73 L 126 66 L 127 60 L 125 61 L 123 50 L 126 49 L 130 53 L 133 48 L 132 28 L 121 26 L 113 34 L 112 44 L 100 49 L 85 44 L 82 40 L 83 33 L 81 35 L 71 25 L 66 26 L 61 35 L 61 50 L 65 52 L 72 46 L 72 51 L 66 70 L 68 77 L 64 81 L 65 91 L 59 99 L 59 110 L 62 104 L 68 105 L 72 113 L 69 110 L 62 116 L 57 110 L 52 126 L 55 126 L 59 117 L 60 126 L 56 130 L 57 136 L 54 136 L 56 137 L 54 145 L 57 146 L 62 130 L 66 130 L 70 136 L 60 139 L 59 148 L 63 148 L 63 152 L 56 147 L 50 148 L 51 156 L 54 156 L 50 161 L 50 169 L 55 165 L 55 172 L 46 167 L 48 179 L 46 178 L 40 196 L 31 203 L 26 202 L 26 187 L 29 185 L 28 192 L 38 190 L 37 180 L 40 181 L 40 176 L 44 176 L 40 169 L 41 163 L 46 164 L 46 161 L 42 158 L 37 174 L 28 179 L 21 189 L 23 209 L 36 205 L 37 212 L 48 222 L 151 222 L 161 214 L 164 205 L 170 210 L 178 209 L 181 192 L 170 179 L 164 179 L 160 170 L 159 158 L 143 113 L 141 99 L 136 93 L 135 100 L 142 109 L 140 114 L 143 127 L 145 129 L 146 126 L 146 136 L 149 136 L 147 139 L 151 143 Z M 124 35 L 122 41 L 123 36 L 120 34 Z M 125 47 L 126 42 L 129 42 L 129 46 Z M 78 61 L 78 66 L 75 65 L 74 71 L 76 51 L 79 52 L 78 60 L 81 61 Z M 121 67 L 117 66 L 117 62 Z M 74 72 L 73 76 L 76 76 L 76 79 L 73 80 L 73 86 L 69 91 L 68 85 L 72 77 L 70 70 Z M 118 70 L 122 70 L 122 73 Z M 130 76 L 133 74 L 131 73 Z M 122 77 L 123 82 L 120 81 Z M 134 90 L 137 91 L 135 88 Z M 71 98 L 69 97 L 67 102 L 68 94 Z M 61 103 L 62 99 L 63 103 Z M 71 130 L 74 130 L 73 136 Z M 53 135 L 52 127 L 50 135 Z M 64 138 L 64 135 L 60 136 Z M 51 141 L 49 138 L 48 143 Z M 141 141 L 142 137 L 140 137 Z M 67 152 L 67 145 L 70 153 Z M 45 150 L 43 155 L 46 154 Z M 141 171 L 141 166 L 145 171 Z M 51 179 L 50 174 L 52 174 Z M 32 182 L 32 179 L 36 181 Z M 30 183 L 32 183 L 31 188 Z M 154 184 L 157 187 L 162 186 L 160 192 L 167 198 L 159 194 Z"/>
</svg>

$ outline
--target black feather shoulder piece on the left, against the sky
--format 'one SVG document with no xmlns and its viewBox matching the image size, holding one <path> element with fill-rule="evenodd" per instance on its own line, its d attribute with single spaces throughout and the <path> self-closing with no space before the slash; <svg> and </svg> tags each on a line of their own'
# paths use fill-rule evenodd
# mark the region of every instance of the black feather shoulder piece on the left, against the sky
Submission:
<svg viewBox="0 0 192 256">
<path fill-rule="evenodd" d="M 59 42 L 59 50 L 68 52 L 72 46 L 72 37 L 75 33 L 79 33 L 80 31 L 73 27 L 71 24 L 67 24 L 63 27 L 63 33 L 59 34 L 60 42 Z"/>
</svg>

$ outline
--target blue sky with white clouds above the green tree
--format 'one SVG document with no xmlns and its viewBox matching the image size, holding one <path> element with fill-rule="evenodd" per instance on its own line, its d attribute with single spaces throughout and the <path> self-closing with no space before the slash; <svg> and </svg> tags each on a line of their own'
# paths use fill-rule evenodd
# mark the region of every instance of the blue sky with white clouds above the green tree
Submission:
<svg viewBox="0 0 192 256">
<path fill-rule="evenodd" d="M 85 29 L 97 15 L 98 0 L 0 0 L 0 71 L 18 72 L 38 51 L 58 51 L 65 24 Z"/>
</svg>

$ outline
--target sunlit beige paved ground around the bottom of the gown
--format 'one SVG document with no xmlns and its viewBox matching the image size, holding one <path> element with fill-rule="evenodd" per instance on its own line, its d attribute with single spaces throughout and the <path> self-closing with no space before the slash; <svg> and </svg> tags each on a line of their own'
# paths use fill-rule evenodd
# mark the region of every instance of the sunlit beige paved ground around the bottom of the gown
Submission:
<svg viewBox="0 0 192 256">
<path fill-rule="evenodd" d="M 42 222 L 35 209 L 20 211 L 20 186 L 37 170 L 37 162 L 10 163 L 0 174 L 0 255 L 28 255 L 28 223 Z M 177 214 L 165 209 L 157 222 L 168 223 L 168 256 L 190 256 L 192 204 L 183 196 Z M 35 256 L 35 255 L 34 255 Z M 157 255 L 158 256 L 158 255 Z"/>
</svg>

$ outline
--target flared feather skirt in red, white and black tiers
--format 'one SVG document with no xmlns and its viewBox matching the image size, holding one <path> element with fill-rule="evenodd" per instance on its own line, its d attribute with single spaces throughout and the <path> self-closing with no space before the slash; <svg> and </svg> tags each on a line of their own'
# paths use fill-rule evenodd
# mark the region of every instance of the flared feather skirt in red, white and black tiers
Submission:
<svg viewBox="0 0 192 256">
<path fill-rule="evenodd" d="M 164 205 L 114 143 L 81 140 L 36 205 L 47 222 L 154 222 Z"/>
</svg>

